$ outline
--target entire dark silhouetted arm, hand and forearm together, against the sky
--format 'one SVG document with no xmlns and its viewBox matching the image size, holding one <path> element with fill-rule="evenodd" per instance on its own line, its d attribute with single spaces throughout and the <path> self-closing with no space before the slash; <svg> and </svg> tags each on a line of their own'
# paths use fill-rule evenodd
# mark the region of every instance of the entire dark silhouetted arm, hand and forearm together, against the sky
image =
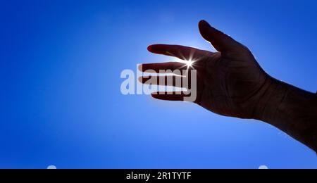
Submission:
<svg viewBox="0 0 317 183">
<path fill-rule="evenodd" d="M 275 80 L 261 68 L 246 46 L 206 21 L 199 22 L 199 31 L 218 52 L 166 44 L 151 45 L 148 50 L 193 61 L 189 69 L 197 70 L 197 99 L 194 103 L 219 115 L 268 122 L 316 151 L 317 95 Z M 142 65 L 143 72 L 184 68 L 187 65 L 178 62 Z M 171 76 L 160 77 L 167 80 Z M 173 79 L 176 77 L 184 76 L 173 76 Z M 149 78 L 139 80 L 145 83 Z M 175 86 L 175 82 L 172 85 Z M 166 93 L 152 96 L 167 101 L 184 101 L 186 95 Z"/>
</svg>

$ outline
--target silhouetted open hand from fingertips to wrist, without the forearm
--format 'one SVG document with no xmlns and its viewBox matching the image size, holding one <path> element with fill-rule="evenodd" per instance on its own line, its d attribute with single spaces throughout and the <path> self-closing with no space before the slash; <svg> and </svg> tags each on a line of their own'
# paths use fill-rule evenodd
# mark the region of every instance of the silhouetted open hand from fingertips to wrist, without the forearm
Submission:
<svg viewBox="0 0 317 183">
<path fill-rule="evenodd" d="M 157 44 L 149 46 L 152 53 L 175 56 L 194 61 L 197 70 L 197 99 L 200 106 L 220 115 L 237 118 L 254 118 L 257 104 L 272 79 L 252 53 L 228 35 L 201 20 L 199 30 L 208 42 L 219 51 L 202 51 L 186 46 Z M 175 70 L 185 63 L 149 63 L 142 65 L 146 70 Z M 142 78 L 143 83 L 149 78 Z M 152 94 L 156 99 L 183 101 L 184 94 Z"/>
</svg>

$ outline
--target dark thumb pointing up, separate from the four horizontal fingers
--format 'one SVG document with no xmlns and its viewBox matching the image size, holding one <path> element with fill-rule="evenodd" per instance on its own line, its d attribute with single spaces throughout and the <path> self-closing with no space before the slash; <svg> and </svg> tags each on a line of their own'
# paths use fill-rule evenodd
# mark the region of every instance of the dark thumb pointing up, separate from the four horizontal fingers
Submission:
<svg viewBox="0 0 317 183">
<path fill-rule="evenodd" d="M 206 41 L 210 42 L 213 47 L 220 52 L 234 51 L 244 48 L 244 46 L 235 41 L 235 39 L 232 39 L 227 34 L 224 34 L 223 32 L 220 32 L 220 30 L 216 30 L 214 27 L 211 27 L 211 25 L 209 25 L 209 23 L 207 23 L 205 20 L 201 20 L 199 22 L 199 31 L 201 36 L 204 37 Z"/>
</svg>

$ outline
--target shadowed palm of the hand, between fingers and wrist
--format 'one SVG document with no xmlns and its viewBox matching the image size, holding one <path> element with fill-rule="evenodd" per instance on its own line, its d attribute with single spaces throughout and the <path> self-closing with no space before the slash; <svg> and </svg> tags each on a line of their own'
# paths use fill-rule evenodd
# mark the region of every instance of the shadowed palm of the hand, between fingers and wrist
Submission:
<svg viewBox="0 0 317 183">
<path fill-rule="evenodd" d="M 253 56 L 246 54 L 241 58 L 214 53 L 202 61 L 206 67 L 197 71 L 203 74 L 198 77 L 200 106 L 221 115 L 251 118 L 266 74 Z"/>
</svg>

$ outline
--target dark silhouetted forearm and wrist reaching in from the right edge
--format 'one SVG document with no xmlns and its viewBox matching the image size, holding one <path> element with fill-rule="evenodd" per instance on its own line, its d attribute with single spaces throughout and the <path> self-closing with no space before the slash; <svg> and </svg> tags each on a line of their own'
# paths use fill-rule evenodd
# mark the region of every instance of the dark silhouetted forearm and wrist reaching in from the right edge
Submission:
<svg viewBox="0 0 317 183">
<path fill-rule="evenodd" d="M 255 118 L 268 122 L 317 152 L 317 94 L 268 78 Z"/>
</svg>

